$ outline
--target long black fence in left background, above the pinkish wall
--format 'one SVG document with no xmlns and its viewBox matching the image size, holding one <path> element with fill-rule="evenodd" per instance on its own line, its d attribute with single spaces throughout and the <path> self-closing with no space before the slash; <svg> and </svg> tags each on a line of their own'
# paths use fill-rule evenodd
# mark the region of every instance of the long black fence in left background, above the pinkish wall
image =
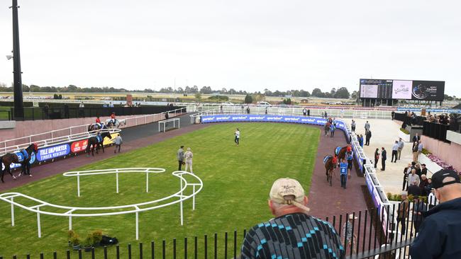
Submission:
<svg viewBox="0 0 461 259">
<path fill-rule="evenodd" d="M 75 108 L 75 107 L 26 107 L 23 108 L 23 116 L 21 111 L 11 108 L 8 112 L 9 120 L 56 120 L 56 119 L 70 119 L 78 117 L 96 117 L 96 116 L 110 116 L 111 113 L 116 113 L 117 116 L 123 115 L 147 115 L 155 113 L 163 113 L 167 110 L 176 110 L 179 106 L 141 106 L 141 107 L 88 107 L 88 108 Z M 1 116 L 1 114 L 0 114 Z M 6 115 L 4 116 L 6 118 Z"/>
</svg>

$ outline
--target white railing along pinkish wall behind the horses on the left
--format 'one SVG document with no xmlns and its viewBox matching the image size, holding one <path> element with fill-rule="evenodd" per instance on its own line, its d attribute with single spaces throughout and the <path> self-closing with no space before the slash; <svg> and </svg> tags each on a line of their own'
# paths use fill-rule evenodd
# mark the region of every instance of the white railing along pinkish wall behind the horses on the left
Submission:
<svg viewBox="0 0 461 259">
<path fill-rule="evenodd" d="M 124 127 L 134 127 L 138 125 L 143 125 L 151 122 L 156 122 L 158 120 L 163 120 L 165 118 L 165 113 L 169 113 L 171 117 L 181 115 L 182 113 L 186 113 L 186 108 L 179 108 L 176 110 L 170 110 L 168 112 L 163 113 L 155 113 L 150 115 L 140 115 L 135 117 L 128 117 L 123 119 L 126 121 L 126 124 L 122 126 Z M 9 153 L 11 151 L 18 151 L 18 149 L 22 149 L 27 147 L 32 143 L 42 143 L 42 142 L 57 142 L 62 139 L 66 139 L 72 135 L 77 136 L 77 134 L 87 134 L 88 127 L 91 124 L 86 125 L 79 125 L 79 126 L 72 126 L 66 127 L 63 129 L 55 129 L 50 132 L 43 132 L 40 134 L 32 134 L 27 137 L 18 137 L 16 139 L 8 139 L 0 142 L 0 156 L 2 154 Z M 72 139 L 74 140 L 74 139 Z M 19 147 L 18 147 L 19 146 Z"/>
</svg>

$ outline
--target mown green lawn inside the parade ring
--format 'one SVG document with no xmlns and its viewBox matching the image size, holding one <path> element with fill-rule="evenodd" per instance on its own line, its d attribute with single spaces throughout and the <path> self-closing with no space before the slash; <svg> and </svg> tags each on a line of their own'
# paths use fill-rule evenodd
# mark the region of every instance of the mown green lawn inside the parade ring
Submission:
<svg viewBox="0 0 461 259">
<path fill-rule="evenodd" d="M 240 146 L 233 143 L 235 127 L 240 128 Z M 76 179 L 55 175 L 11 190 L 37 197 L 57 205 L 100 207 L 127 205 L 165 197 L 179 188 L 179 180 L 171 175 L 177 169 L 176 151 L 181 144 L 194 151 L 194 173 L 204 182 L 204 189 L 196 197 L 196 210 L 191 201 L 184 203 L 184 226 L 179 224 L 179 205 L 140 213 L 140 240 L 135 241 L 135 215 L 74 218 L 73 229 L 79 236 L 101 229 L 104 234 L 116 236 L 121 252 L 126 253 L 132 243 L 138 253 L 138 242 L 143 242 L 150 255 L 150 241 L 156 242 L 155 253 L 160 256 L 161 242 L 167 243 L 167 258 L 172 258 L 172 240 L 177 240 L 179 252 L 184 237 L 189 238 L 189 253 L 193 238 L 199 236 L 199 253 L 203 253 L 204 234 L 209 235 L 208 254 L 213 255 L 213 234 L 218 233 L 218 253 L 223 253 L 223 234 L 229 236 L 229 251 L 233 251 L 233 231 L 238 230 L 238 250 L 243 229 L 270 219 L 267 197 L 277 178 L 298 179 L 309 192 L 320 131 L 304 125 L 245 123 L 211 125 L 142 149 L 118 154 L 111 159 L 93 163 L 80 170 L 128 167 L 161 167 L 167 172 L 150 177 L 150 192 L 145 193 L 145 175 L 121 175 L 120 193 L 115 193 L 115 175 L 92 175 L 81 179 L 82 197 L 77 198 Z M 111 149 L 109 149 L 111 151 Z M 10 206 L 0 202 L 0 256 L 11 258 L 13 253 L 30 253 L 37 258 L 41 251 L 45 258 L 52 251 L 63 255 L 67 246 L 68 219 L 41 216 L 42 238 L 37 236 L 36 214 L 16 207 L 16 226 L 11 226 Z M 115 249 L 109 249 L 113 255 Z M 96 253 L 101 254 L 102 249 Z M 72 252 L 72 258 L 76 252 Z M 61 257 L 61 256 L 60 256 Z M 60 258 L 59 257 L 59 258 Z M 203 255 L 201 256 L 203 258 Z M 221 258 L 221 256 L 218 256 Z M 89 258 L 89 253 L 84 254 Z M 111 258 L 111 257 L 110 257 Z"/>
</svg>

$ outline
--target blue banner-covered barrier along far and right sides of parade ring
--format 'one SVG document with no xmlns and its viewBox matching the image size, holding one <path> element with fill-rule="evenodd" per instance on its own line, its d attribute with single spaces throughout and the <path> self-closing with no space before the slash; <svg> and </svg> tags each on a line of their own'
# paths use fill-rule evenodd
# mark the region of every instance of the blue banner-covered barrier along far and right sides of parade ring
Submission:
<svg viewBox="0 0 461 259">
<path fill-rule="evenodd" d="M 206 111 L 204 113 L 196 113 L 190 115 L 191 123 L 211 123 L 211 122 L 289 122 L 300 123 L 309 125 L 325 125 L 326 119 L 323 117 L 305 117 L 284 114 L 265 114 L 265 115 L 252 115 L 252 114 L 218 114 L 218 110 Z M 365 155 L 362 146 L 357 141 L 357 135 L 350 130 L 349 125 L 343 120 L 336 120 L 336 126 L 345 133 L 346 140 L 351 144 L 354 151 L 354 159 L 360 171 L 365 177 L 370 196 L 374 202 L 375 207 L 378 208 L 379 216 L 382 217 L 382 229 L 387 232 L 389 229 L 388 221 L 396 221 L 394 214 L 389 215 L 389 200 L 387 199 L 384 188 L 379 183 L 376 177 L 376 171 L 372 161 Z"/>
</svg>

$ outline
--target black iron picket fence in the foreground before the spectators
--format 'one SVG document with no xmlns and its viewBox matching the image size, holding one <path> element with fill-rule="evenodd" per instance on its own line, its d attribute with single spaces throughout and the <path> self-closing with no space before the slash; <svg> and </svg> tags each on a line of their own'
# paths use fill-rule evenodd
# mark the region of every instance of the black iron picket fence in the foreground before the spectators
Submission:
<svg viewBox="0 0 461 259">
<path fill-rule="evenodd" d="M 351 218 L 351 214 L 340 214 L 324 220 L 330 222 L 340 235 L 346 258 L 370 258 L 374 255 L 381 255 L 382 258 L 404 258 L 409 254 L 409 245 L 423 221 L 418 212 L 428 209 L 426 204 L 413 205 L 409 203 L 406 208 L 406 205 L 400 203 L 381 209 L 354 212 Z M 400 219 L 399 223 L 396 222 L 397 217 Z M 350 240 L 344 238 L 349 231 Z M 240 258 L 240 247 L 246 232 L 244 229 L 150 243 L 121 243 L 110 247 L 92 247 L 87 251 L 70 247 L 63 251 L 34 254 L 33 258 Z M 0 259 L 6 258 L 31 258 L 31 255 L 0 255 Z"/>
</svg>

